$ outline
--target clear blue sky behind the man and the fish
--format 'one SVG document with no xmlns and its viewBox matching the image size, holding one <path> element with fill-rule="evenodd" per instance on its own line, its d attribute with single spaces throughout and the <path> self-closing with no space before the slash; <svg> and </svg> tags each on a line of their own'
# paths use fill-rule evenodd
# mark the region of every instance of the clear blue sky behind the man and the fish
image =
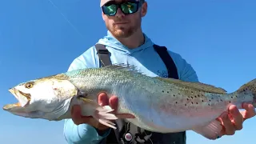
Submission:
<svg viewBox="0 0 256 144">
<path fill-rule="evenodd" d="M 57 74 L 106 34 L 99 1 L 12 0 L 0 2 L 0 106 L 16 102 L 8 88 Z M 161 2 L 161 3 L 158 3 Z M 201 82 L 228 92 L 256 78 L 254 0 L 149 1 L 144 32 L 186 58 Z M 65 16 L 63 16 L 63 15 Z M 68 20 L 67 20 L 67 19 Z M 65 143 L 63 122 L 0 112 L 0 143 Z M 254 142 L 256 118 L 234 136 L 209 141 L 188 132 L 188 144 Z"/>
</svg>

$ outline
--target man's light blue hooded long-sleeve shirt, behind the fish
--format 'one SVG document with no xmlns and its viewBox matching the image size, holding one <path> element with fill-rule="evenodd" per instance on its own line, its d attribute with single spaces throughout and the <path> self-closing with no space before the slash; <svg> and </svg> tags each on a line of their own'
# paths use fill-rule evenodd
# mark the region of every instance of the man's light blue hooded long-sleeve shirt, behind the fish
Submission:
<svg viewBox="0 0 256 144">
<path fill-rule="evenodd" d="M 118 42 L 116 38 L 107 32 L 104 38 L 99 39 L 98 43 L 106 46 L 110 51 L 110 60 L 112 63 L 125 63 L 136 66 L 143 74 L 149 76 L 167 77 L 166 66 L 158 53 L 154 50 L 154 42 L 145 34 L 145 43 L 136 49 L 130 50 Z M 178 70 L 179 79 L 187 82 L 198 82 L 198 76 L 192 66 L 181 55 L 168 50 L 173 58 Z M 70 64 L 68 71 L 82 68 L 99 67 L 98 54 L 94 46 L 90 47 L 83 54 L 75 58 Z M 109 134 L 100 136 L 93 126 L 87 124 L 75 125 L 71 119 L 65 120 L 64 137 L 70 144 L 98 144 Z"/>
</svg>

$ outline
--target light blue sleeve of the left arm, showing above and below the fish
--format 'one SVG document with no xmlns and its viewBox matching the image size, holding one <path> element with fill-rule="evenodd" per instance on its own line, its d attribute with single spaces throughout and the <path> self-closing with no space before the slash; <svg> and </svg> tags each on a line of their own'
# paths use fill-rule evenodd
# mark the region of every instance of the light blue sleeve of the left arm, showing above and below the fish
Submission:
<svg viewBox="0 0 256 144">
<path fill-rule="evenodd" d="M 90 66 L 89 66 L 90 67 Z M 80 56 L 70 64 L 68 71 L 78 70 L 82 68 L 88 68 L 84 57 Z M 101 143 L 103 138 L 106 138 L 110 134 L 110 130 L 106 131 L 106 134 L 99 135 L 93 126 L 87 124 L 74 124 L 72 119 L 66 119 L 64 121 L 64 138 L 69 144 L 98 144 Z"/>
</svg>

